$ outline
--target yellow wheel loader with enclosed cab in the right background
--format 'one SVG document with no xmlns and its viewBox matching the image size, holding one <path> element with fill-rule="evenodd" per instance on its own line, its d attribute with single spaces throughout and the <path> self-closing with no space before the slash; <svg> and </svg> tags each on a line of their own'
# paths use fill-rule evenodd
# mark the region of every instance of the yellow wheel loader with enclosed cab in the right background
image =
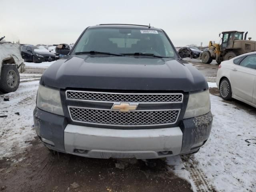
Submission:
<svg viewBox="0 0 256 192">
<path fill-rule="evenodd" d="M 203 52 L 200 56 L 202 62 L 210 64 L 215 59 L 220 64 L 222 61 L 230 60 L 241 54 L 256 51 L 256 41 L 250 40 L 251 38 L 246 40 L 247 33 L 244 36 L 244 32 L 239 31 L 222 32 L 222 43 L 210 41 L 208 51 Z"/>
</svg>

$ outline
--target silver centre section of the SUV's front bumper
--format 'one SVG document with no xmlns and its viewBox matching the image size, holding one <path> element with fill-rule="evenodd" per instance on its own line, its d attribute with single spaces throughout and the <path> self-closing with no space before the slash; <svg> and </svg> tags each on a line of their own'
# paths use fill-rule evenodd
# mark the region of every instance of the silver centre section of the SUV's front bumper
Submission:
<svg viewBox="0 0 256 192">
<path fill-rule="evenodd" d="M 180 154 L 179 127 L 147 130 L 115 130 L 68 124 L 65 151 L 91 158 L 150 159 Z"/>
</svg>

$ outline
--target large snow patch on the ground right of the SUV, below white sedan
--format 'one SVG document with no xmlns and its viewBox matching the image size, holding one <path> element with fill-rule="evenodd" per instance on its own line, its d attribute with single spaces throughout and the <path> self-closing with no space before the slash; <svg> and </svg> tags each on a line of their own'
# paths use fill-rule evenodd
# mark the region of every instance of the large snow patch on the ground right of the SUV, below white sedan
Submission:
<svg viewBox="0 0 256 192">
<path fill-rule="evenodd" d="M 196 191 L 195 177 L 207 178 L 209 185 L 198 186 L 202 191 L 211 191 L 207 186 L 214 186 L 217 191 L 256 191 L 256 118 L 245 110 L 228 104 L 218 96 L 211 95 L 211 111 L 214 115 L 210 138 L 200 151 L 188 162 L 186 170 L 177 168 L 174 172 L 187 179 Z M 251 142 L 246 142 L 247 139 Z M 254 144 L 252 144 L 254 143 Z M 250 144 L 250 145 L 249 145 Z M 176 165 L 168 158 L 170 165 Z M 176 160 L 178 161 L 178 160 Z M 191 171 L 194 166 L 196 173 Z M 194 169 L 194 168 L 193 168 Z M 203 172 L 203 173 L 200 173 Z M 197 176 L 195 174 L 198 174 Z"/>
</svg>

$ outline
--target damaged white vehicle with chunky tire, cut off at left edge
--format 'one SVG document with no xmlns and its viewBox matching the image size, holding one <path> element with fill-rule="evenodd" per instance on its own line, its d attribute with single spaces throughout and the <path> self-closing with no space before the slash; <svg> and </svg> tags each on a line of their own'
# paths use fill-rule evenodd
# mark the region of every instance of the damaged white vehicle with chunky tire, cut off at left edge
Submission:
<svg viewBox="0 0 256 192">
<path fill-rule="evenodd" d="M 20 73 L 24 72 L 24 60 L 20 46 L 0 38 L 0 91 L 14 92 L 20 85 Z"/>
</svg>

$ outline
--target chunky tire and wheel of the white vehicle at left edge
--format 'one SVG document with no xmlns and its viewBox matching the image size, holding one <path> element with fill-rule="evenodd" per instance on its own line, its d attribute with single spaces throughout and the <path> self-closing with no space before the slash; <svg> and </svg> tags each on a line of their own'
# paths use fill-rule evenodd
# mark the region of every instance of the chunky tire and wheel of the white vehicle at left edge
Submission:
<svg viewBox="0 0 256 192">
<path fill-rule="evenodd" d="M 15 65 L 6 64 L 2 67 L 0 79 L 1 92 L 14 92 L 20 85 L 20 74 Z"/>
</svg>

